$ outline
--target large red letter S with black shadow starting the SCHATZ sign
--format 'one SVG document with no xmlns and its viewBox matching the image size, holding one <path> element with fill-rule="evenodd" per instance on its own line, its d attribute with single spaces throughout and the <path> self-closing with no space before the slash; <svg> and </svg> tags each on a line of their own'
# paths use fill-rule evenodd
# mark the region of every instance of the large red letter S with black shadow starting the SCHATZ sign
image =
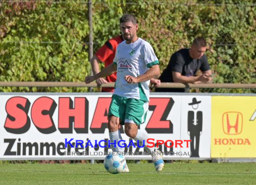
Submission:
<svg viewBox="0 0 256 185">
<path fill-rule="evenodd" d="M 5 119 L 4 128 L 7 132 L 22 134 L 30 128 L 30 119 L 28 110 L 30 102 L 25 97 L 12 97 L 5 105 L 7 117 Z"/>
</svg>

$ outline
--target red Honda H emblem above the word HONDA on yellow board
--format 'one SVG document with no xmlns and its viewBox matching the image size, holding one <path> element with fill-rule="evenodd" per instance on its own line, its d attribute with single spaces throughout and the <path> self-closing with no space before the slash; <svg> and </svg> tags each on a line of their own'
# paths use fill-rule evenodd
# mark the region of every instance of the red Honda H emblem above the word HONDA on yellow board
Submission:
<svg viewBox="0 0 256 185">
<path fill-rule="evenodd" d="M 223 132 L 228 135 L 238 135 L 243 128 L 243 115 L 240 112 L 225 112 L 222 115 Z"/>
</svg>

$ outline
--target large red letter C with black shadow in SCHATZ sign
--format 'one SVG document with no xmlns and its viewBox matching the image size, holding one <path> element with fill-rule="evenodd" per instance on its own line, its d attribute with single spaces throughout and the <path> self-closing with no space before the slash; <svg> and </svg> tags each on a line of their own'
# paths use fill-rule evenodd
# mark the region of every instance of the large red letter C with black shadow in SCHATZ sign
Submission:
<svg viewBox="0 0 256 185">
<path fill-rule="evenodd" d="M 52 118 L 56 106 L 56 102 L 49 97 L 40 97 L 33 103 L 31 119 L 41 133 L 49 134 L 56 131 Z"/>
</svg>

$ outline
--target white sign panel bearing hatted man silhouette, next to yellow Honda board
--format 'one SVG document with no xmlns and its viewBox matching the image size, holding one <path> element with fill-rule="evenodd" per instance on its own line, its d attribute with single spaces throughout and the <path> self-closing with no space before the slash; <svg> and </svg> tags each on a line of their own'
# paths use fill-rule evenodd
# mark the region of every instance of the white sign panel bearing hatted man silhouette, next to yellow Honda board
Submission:
<svg viewBox="0 0 256 185">
<path fill-rule="evenodd" d="M 182 96 L 181 99 L 181 139 L 191 140 L 189 148 L 183 144 L 181 151 L 191 152 L 191 158 L 209 158 L 211 97 Z"/>
</svg>

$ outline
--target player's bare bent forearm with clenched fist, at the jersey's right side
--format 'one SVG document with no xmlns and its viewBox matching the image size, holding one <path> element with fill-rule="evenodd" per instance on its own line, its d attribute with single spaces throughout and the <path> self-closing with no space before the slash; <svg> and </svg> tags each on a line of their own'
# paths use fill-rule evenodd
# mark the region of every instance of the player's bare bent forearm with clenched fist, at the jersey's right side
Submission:
<svg viewBox="0 0 256 185">
<path fill-rule="evenodd" d="M 133 77 L 131 75 L 126 75 L 125 80 L 129 84 L 135 84 L 135 83 L 144 82 L 149 79 L 152 79 L 152 78 L 158 76 L 159 74 L 160 74 L 160 68 L 159 68 L 159 65 L 157 64 L 157 65 L 151 66 L 150 69 L 147 70 L 146 73 L 144 73 L 143 75 L 140 75 L 137 77 Z"/>
</svg>

